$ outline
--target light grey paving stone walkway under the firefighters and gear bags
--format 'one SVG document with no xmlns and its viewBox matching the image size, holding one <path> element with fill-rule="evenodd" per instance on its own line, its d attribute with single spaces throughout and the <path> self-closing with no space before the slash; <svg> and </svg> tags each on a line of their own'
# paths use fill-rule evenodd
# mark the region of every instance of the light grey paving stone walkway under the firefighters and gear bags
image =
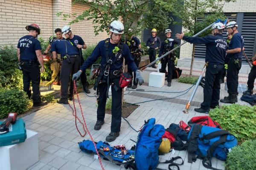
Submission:
<svg viewBox="0 0 256 170">
<path fill-rule="evenodd" d="M 167 82 L 166 82 L 167 83 Z M 186 102 L 192 93 L 192 89 L 187 92 L 179 92 L 188 89 L 192 85 L 178 83 L 176 80 L 172 82 L 172 86 L 168 87 L 166 84 L 162 88 L 155 88 L 146 86 L 138 86 L 138 89 L 145 91 L 162 91 L 162 92 L 140 92 L 140 91 L 126 91 L 125 101 L 128 103 L 140 103 L 138 107 L 127 120 L 131 125 L 139 130 L 143 125 L 144 120 L 148 118 L 156 118 L 157 124 L 162 124 L 164 127 L 169 127 L 169 124 L 178 124 L 180 120 L 189 121 L 193 116 L 206 115 L 197 113 L 194 108 L 200 106 L 203 100 L 203 88 L 198 87 L 192 105 L 189 108 L 189 114 L 184 114 L 182 110 L 185 109 Z M 93 89 L 90 89 L 93 92 Z M 169 92 L 169 93 L 165 93 Z M 184 95 L 181 95 L 184 94 Z M 90 94 L 92 95 L 92 94 Z M 175 96 L 180 97 L 174 98 Z M 221 98 L 227 95 L 224 90 L 224 84 L 221 84 Z M 241 97 L 241 93 L 239 94 Z M 106 136 L 110 133 L 111 115 L 106 114 L 105 124 L 99 131 L 93 130 L 96 123 L 96 98 L 88 97 L 84 93 L 79 93 L 79 98 L 84 112 L 84 117 L 95 141 L 105 141 Z M 166 100 L 149 101 L 160 98 L 174 98 Z M 76 108 L 78 107 L 78 100 L 75 99 Z M 72 104 L 72 102 L 70 102 Z M 221 103 L 220 103 L 221 104 Z M 249 105 L 241 100 L 239 104 Z M 222 104 L 221 104 L 222 105 Z M 80 112 L 79 118 L 81 118 Z M 29 170 L 100 170 L 99 161 L 89 155 L 81 152 L 77 142 L 84 139 L 89 139 L 89 135 L 81 137 L 76 130 L 75 118 L 72 115 L 72 109 L 69 105 L 53 104 L 44 109 L 33 112 L 32 114 L 23 117 L 26 122 L 26 128 L 38 132 L 39 137 L 39 161 L 34 164 Z M 81 119 L 82 120 L 82 119 Z M 78 124 L 79 130 L 82 132 L 81 124 Z M 119 137 L 111 142 L 111 145 L 125 144 L 127 148 L 131 148 L 135 143 L 130 139 L 137 140 L 137 133 L 132 130 L 129 125 L 122 119 L 121 132 Z M 190 164 L 188 163 L 186 151 L 175 151 L 175 154 L 168 153 L 160 156 L 160 161 L 172 158 L 174 156 L 181 156 L 184 164 L 180 166 L 180 170 L 206 170 L 202 165 L 200 159 Z M 117 166 L 108 161 L 103 161 L 105 170 L 125 170 L 123 166 Z M 168 169 L 168 164 L 160 164 L 159 167 Z M 224 161 L 212 159 L 212 167 L 224 169 Z"/>
</svg>

